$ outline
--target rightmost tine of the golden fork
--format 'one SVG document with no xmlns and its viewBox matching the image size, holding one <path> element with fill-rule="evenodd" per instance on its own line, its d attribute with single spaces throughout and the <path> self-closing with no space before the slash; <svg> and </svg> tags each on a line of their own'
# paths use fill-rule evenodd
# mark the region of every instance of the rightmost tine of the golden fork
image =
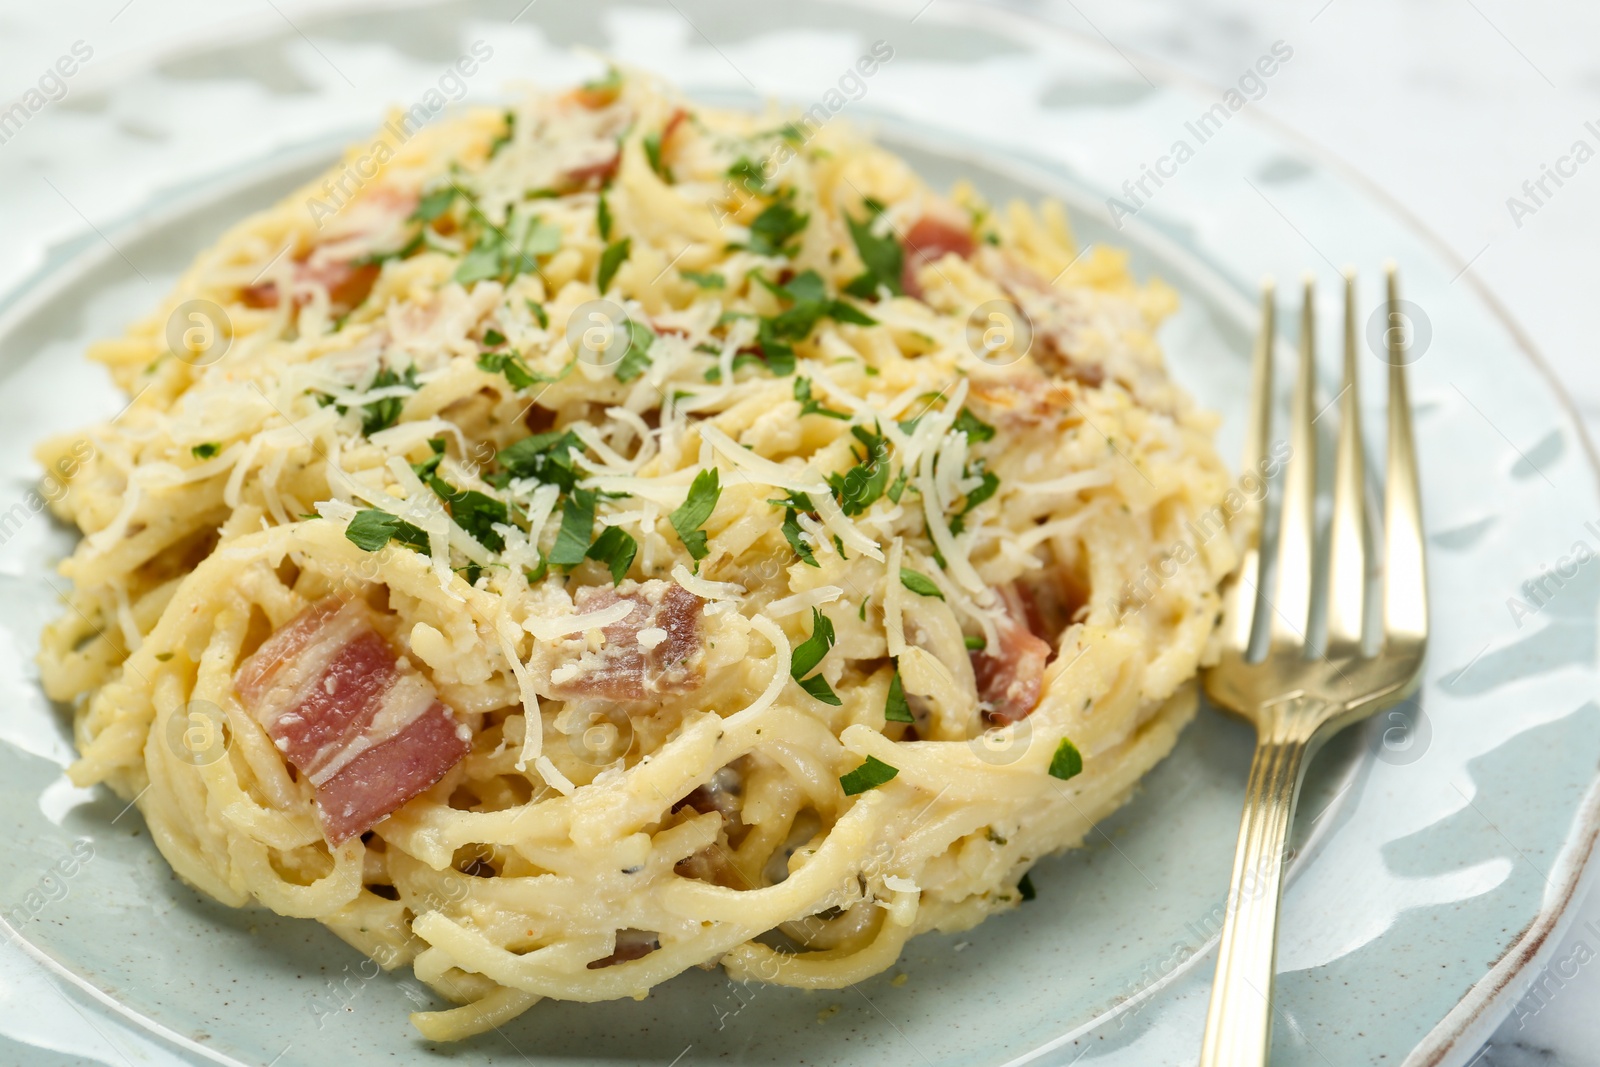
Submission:
<svg viewBox="0 0 1600 1067">
<path fill-rule="evenodd" d="M 1384 488 L 1384 646 L 1419 654 L 1427 641 L 1427 568 L 1422 563 L 1422 496 L 1405 381 L 1400 283 L 1387 264 L 1389 464 Z"/>
</svg>

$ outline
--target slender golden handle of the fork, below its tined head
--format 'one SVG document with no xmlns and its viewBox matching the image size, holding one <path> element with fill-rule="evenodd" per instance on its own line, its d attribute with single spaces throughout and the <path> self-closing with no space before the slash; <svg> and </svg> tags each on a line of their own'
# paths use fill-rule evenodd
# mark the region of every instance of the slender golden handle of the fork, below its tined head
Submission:
<svg viewBox="0 0 1600 1067">
<path fill-rule="evenodd" d="M 1264 1067 L 1272 1048 L 1283 851 L 1314 733 L 1301 715 L 1274 720 L 1262 723 L 1250 765 L 1200 1067 Z"/>
</svg>

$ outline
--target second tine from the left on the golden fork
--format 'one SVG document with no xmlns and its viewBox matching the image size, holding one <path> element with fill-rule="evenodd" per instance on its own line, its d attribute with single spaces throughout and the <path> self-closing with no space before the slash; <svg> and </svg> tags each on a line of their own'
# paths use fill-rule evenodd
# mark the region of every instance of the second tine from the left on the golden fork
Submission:
<svg viewBox="0 0 1600 1067">
<path fill-rule="evenodd" d="M 1278 584 L 1274 590 L 1272 649 L 1306 648 L 1310 621 L 1310 582 L 1315 533 L 1312 507 L 1317 488 L 1317 427 L 1312 398 L 1317 392 L 1317 282 L 1306 277 L 1301 302 L 1301 358 L 1294 381 L 1290 426 L 1288 474 L 1283 477 L 1283 515 L 1278 522 Z"/>
</svg>

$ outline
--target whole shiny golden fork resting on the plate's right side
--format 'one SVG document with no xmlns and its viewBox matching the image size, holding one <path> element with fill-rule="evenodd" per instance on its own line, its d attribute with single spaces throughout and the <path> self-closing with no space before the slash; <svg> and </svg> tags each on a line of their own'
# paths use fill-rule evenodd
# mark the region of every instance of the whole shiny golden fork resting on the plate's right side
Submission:
<svg viewBox="0 0 1600 1067">
<path fill-rule="evenodd" d="M 1307 641 L 1317 569 L 1317 437 L 1314 283 L 1301 307 L 1299 379 L 1291 402 L 1293 451 L 1283 475 L 1275 595 L 1261 590 L 1262 502 L 1253 506 L 1250 542 L 1224 600 L 1222 656 L 1206 670 L 1213 702 L 1256 726 L 1256 755 L 1234 853 L 1234 881 L 1218 945 L 1200 1067 L 1258 1067 L 1272 1043 L 1272 977 L 1283 888 L 1283 851 L 1294 821 L 1301 776 L 1315 747 L 1350 723 L 1403 697 L 1418 680 L 1427 646 L 1427 573 L 1422 509 L 1406 398 L 1405 339 L 1394 266 L 1387 270 L 1389 461 L 1384 485 L 1382 609 L 1376 651 L 1363 648 L 1366 619 L 1366 514 L 1360 395 L 1355 386 L 1355 275 L 1344 280 L 1344 390 L 1328 537 L 1326 648 Z M 1262 286 L 1251 426 L 1245 470 L 1261 472 L 1272 432 L 1274 291 Z M 1258 608 L 1259 605 L 1259 608 Z M 1267 629 L 1266 657 L 1251 662 L 1258 613 Z"/>
</svg>

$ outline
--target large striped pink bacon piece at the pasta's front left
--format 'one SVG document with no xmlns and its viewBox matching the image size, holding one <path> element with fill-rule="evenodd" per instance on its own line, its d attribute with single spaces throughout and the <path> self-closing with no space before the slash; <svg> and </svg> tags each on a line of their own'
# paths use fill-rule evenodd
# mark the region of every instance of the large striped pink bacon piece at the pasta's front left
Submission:
<svg viewBox="0 0 1600 1067">
<path fill-rule="evenodd" d="M 442 779 L 470 747 L 467 726 L 360 605 L 312 605 L 238 667 L 234 686 L 315 787 L 336 846 Z"/>
</svg>

